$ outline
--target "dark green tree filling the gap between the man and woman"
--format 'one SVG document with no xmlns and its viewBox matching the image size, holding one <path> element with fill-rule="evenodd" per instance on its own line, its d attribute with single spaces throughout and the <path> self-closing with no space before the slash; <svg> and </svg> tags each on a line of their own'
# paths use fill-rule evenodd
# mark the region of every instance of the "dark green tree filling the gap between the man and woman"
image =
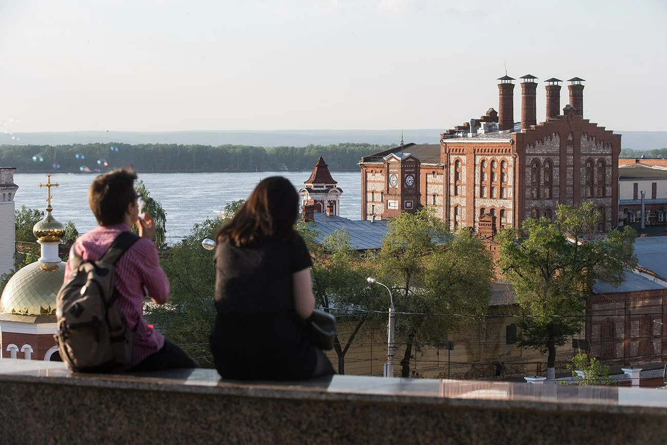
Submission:
<svg viewBox="0 0 667 445">
<path fill-rule="evenodd" d="M 169 302 L 147 309 L 147 320 L 203 367 L 213 366 L 208 339 L 215 322 L 215 251 L 204 250 L 201 240 L 215 238 L 242 203 L 241 199 L 227 204 L 223 212 L 227 217 L 195 224 L 187 238 L 165 252 L 161 265 L 169 278 Z"/>
</svg>

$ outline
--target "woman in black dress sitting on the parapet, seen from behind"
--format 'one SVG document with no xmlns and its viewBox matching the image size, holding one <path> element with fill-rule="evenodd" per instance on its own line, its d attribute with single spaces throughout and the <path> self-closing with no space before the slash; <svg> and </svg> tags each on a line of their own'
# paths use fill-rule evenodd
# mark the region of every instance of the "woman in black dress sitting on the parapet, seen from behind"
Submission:
<svg viewBox="0 0 667 445">
<path fill-rule="evenodd" d="M 280 176 L 261 181 L 217 234 L 211 351 L 217 372 L 237 380 L 299 380 L 334 374 L 309 341 L 315 298 L 310 254 L 293 228 L 299 195 Z"/>
</svg>

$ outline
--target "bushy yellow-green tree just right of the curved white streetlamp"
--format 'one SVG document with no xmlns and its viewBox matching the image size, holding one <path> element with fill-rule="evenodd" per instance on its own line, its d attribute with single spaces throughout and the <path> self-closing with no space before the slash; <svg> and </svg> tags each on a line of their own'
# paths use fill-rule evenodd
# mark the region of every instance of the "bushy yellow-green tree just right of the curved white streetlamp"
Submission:
<svg viewBox="0 0 667 445">
<path fill-rule="evenodd" d="M 422 342 L 442 344 L 461 321 L 440 314 L 488 308 L 493 269 L 480 238 L 465 229 L 448 232 L 430 207 L 400 213 L 387 229 L 377 262 L 384 280 L 398 291 L 396 335 L 406 343 L 401 366 L 408 377 L 417 332 Z"/>
</svg>

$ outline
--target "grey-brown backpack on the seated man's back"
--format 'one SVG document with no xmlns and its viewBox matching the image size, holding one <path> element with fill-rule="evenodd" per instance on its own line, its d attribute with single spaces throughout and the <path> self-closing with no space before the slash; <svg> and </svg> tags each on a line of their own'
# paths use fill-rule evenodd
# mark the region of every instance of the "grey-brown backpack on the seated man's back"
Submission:
<svg viewBox="0 0 667 445">
<path fill-rule="evenodd" d="M 71 275 L 56 298 L 54 338 L 67 367 L 79 372 L 113 372 L 129 364 L 134 344 L 113 286 L 115 264 L 139 237 L 122 232 L 99 260 L 83 261 L 72 246 Z"/>
</svg>

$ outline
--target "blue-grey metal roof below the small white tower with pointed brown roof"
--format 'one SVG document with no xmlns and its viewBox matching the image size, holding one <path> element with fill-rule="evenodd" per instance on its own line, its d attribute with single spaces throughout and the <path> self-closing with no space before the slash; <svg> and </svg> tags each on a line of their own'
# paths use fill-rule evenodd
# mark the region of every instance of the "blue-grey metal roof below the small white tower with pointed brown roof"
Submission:
<svg viewBox="0 0 667 445">
<path fill-rule="evenodd" d="M 387 234 L 387 220 L 354 221 L 340 216 L 327 216 L 317 212 L 314 215 L 315 230 L 319 235 L 315 242 L 321 243 L 335 230 L 342 230 L 350 235 L 350 245 L 354 250 L 380 249 Z"/>
</svg>

